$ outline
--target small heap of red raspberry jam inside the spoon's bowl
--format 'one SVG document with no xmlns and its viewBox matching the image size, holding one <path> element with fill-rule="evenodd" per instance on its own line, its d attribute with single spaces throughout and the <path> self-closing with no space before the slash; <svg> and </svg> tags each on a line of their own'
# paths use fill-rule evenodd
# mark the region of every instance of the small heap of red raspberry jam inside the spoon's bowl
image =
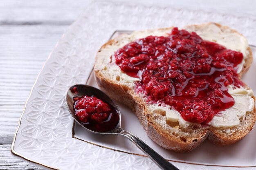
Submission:
<svg viewBox="0 0 256 170">
<path fill-rule="evenodd" d="M 74 97 L 76 117 L 85 124 L 85 127 L 97 131 L 108 132 L 113 130 L 118 122 L 119 115 L 115 108 L 94 96 Z"/>
</svg>

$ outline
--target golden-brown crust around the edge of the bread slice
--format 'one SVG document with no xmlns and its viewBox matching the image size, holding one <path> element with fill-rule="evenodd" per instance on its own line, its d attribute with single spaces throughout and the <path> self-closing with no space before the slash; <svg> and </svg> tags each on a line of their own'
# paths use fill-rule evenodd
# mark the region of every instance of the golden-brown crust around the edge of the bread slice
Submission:
<svg viewBox="0 0 256 170">
<path fill-rule="evenodd" d="M 212 23 L 208 23 L 212 24 Z M 222 26 L 220 24 L 214 23 L 221 29 L 230 29 L 227 26 Z M 194 25 L 194 26 L 200 26 L 200 25 Z M 164 28 L 159 30 L 169 30 L 170 28 Z M 231 31 L 234 31 L 238 33 L 236 30 L 230 29 Z M 101 49 L 99 52 L 106 48 L 106 46 L 115 44 L 115 40 L 110 40 L 103 46 L 101 46 Z M 239 77 L 241 77 L 244 73 L 247 72 L 249 67 L 252 64 L 252 50 L 248 46 L 247 50 L 249 51 L 249 55 L 245 59 L 245 64 L 243 65 L 243 70 L 239 73 Z M 98 54 L 99 54 L 98 52 Z M 96 62 L 98 60 L 99 55 L 96 56 Z M 166 132 L 163 130 L 162 126 L 156 123 L 154 120 L 153 114 L 150 113 L 150 111 L 147 108 L 147 104 L 138 97 L 138 95 L 128 86 L 118 84 L 116 81 L 109 79 L 108 77 L 105 77 L 103 73 L 101 73 L 101 70 L 96 68 L 94 66 L 94 74 L 95 79 L 97 81 L 97 84 L 103 90 L 107 95 L 110 97 L 116 99 L 119 102 L 122 102 L 126 104 L 128 107 L 132 109 L 132 111 L 137 115 L 141 125 L 143 126 L 144 130 L 146 131 L 147 135 L 155 141 L 159 146 L 162 146 L 163 148 L 174 150 L 175 152 L 189 152 L 193 149 L 195 149 L 197 146 L 199 146 L 205 139 L 208 139 L 213 144 L 218 145 L 229 145 L 234 144 L 237 141 L 241 140 L 245 135 L 249 133 L 249 131 L 252 130 L 252 127 L 254 126 L 254 123 L 256 121 L 256 108 L 254 106 L 254 110 L 252 112 L 247 112 L 247 126 L 243 128 L 241 132 L 238 132 L 237 134 L 232 134 L 231 137 L 227 135 L 223 135 L 223 129 L 230 129 L 230 128 L 213 128 L 211 126 L 201 126 L 197 127 L 197 131 L 193 136 L 191 137 L 191 140 L 177 138 L 175 135 L 170 135 L 170 132 Z M 249 87 L 247 87 L 249 88 Z M 254 101 L 255 101 L 255 97 Z M 249 116 L 248 116 L 249 115 Z M 194 129 L 195 127 L 191 127 L 191 129 Z"/>
</svg>

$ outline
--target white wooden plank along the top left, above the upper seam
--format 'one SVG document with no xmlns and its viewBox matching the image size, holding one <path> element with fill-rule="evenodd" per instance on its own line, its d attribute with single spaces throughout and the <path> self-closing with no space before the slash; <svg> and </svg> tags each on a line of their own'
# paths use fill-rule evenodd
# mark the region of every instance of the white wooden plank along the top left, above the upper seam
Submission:
<svg viewBox="0 0 256 170">
<path fill-rule="evenodd" d="M 72 23 L 91 0 L 1 0 L 0 24 Z"/>
</svg>

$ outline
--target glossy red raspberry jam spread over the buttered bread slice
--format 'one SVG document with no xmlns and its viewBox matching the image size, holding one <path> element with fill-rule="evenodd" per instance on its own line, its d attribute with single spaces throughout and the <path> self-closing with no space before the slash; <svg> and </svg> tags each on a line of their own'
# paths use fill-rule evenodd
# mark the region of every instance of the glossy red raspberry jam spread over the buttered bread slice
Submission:
<svg viewBox="0 0 256 170">
<path fill-rule="evenodd" d="M 147 102 L 168 104 L 193 123 L 207 124 L 233 106 L 227 86 L 243 86 L 236 71 L 242 53 L 177 28 L 130 42 L 113 56 L 121 71 L 140 78 L 135 90 Z"/>
</svg>

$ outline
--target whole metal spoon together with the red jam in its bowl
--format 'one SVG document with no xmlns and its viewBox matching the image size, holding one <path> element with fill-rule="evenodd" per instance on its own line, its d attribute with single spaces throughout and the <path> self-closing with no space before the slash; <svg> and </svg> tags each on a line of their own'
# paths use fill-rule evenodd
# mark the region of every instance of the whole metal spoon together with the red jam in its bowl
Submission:
<svg viewBox="0 0 256 170">
<path fill-rule="evenodd" d="M 95 134 L 127 137 L 162 170 L 178 170 L 138 137 L 121 128 L 117 104 L 99 89 L 82 84 L 72 86 L 67 91 L 66 103 L 76 123 L 86 130 Z"/>
</svg>

